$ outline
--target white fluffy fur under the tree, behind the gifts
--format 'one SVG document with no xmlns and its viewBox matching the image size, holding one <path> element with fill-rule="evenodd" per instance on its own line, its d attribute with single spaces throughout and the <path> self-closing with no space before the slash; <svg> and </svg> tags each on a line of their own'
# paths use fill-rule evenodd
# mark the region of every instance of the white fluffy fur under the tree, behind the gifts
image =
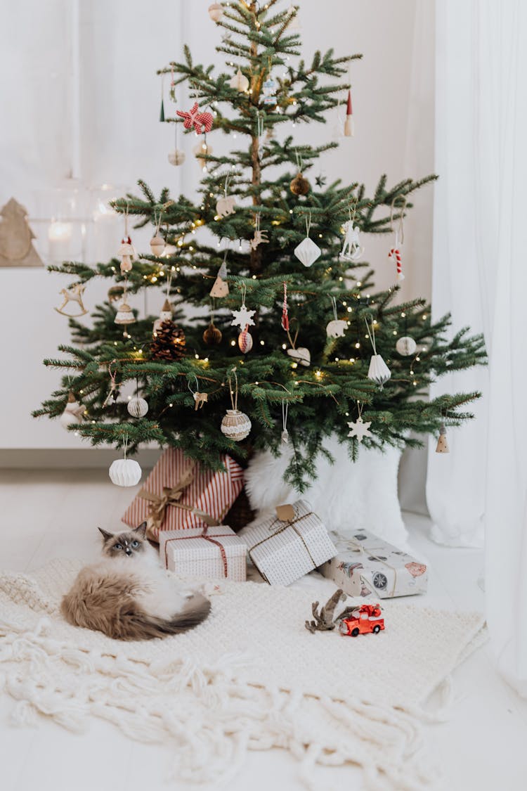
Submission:
<svg viewBox="0 0 527 791">
<path fill-rule="evenodd" d="M 369 530 L 396 546 L 405 544 L 408 533 L 397 498 L 397 470 L 401 451 L 387 447 L 384 452 L 360 448 L 352 462 L 348 448 L 329 437 L 324 442 L 335 460 L 329 464 L 318 457 L 317 477 L 300 494 L 284 483 L 282 475 L 291 458 L 291 448 L 275 458 L 269 451 L 257 453 L 245 473 L 245 486 L 251 508 L 258 518 L 276 505 L 306 499 L 326 528 L 344 537 Z"/>
</svg>

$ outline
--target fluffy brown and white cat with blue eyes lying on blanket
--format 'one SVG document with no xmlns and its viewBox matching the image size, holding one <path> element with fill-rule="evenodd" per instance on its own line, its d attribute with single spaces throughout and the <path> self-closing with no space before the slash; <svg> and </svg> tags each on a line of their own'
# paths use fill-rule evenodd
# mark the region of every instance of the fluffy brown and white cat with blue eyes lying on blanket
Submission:
<svg viewBox="0 0 527 791">
<path fill-rule="evenodd" d="M 146 522 L 117 535 L 99 530 L 103 558 L 81 569 L 62 599 L 66 621 L 116 640 L 150 640 L 185 632 L 205 620 L 209 600 L 178 589 L 161 569 L 145 539 Z"/>
</svg>

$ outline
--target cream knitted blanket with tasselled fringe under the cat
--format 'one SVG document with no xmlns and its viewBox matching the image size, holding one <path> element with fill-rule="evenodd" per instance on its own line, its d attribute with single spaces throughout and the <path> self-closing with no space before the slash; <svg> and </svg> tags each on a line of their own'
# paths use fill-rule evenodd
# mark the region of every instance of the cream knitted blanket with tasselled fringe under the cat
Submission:
<svg viewBox="0 0 527 791">
<path fill-rule="evenodd" d="M 378 635 L 310 634 L 311 592 L 209 582 L 212 614 L 197 629 L 122 643 L 63 621 L 80 567 L 0 573 L 0 688 L 18 723 L 41 713 L 77 731 L 102 717 L 169 744 L 175 777 L 215 789 L 248 749 L 271 747 L 300 760 L 308 787 L 314 763 L 348 762 L 367 788 L 432 787 L 416 755 L 422 706 L 481 641 L 480 614 L 384 600 Z"/>
</svg>

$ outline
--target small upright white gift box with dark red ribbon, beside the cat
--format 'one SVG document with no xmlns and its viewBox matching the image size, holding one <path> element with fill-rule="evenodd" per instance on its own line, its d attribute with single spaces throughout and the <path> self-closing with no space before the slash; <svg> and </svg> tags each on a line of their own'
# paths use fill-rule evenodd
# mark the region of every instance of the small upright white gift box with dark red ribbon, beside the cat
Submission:
<svg viewBox="0 0 527 791">
<path fill-rule="evenodd" d="M 160 558 L 179 577 L 246 579 L 247 546 L 226 524 L 205 530 L 162 530 Z"/>
</svg>

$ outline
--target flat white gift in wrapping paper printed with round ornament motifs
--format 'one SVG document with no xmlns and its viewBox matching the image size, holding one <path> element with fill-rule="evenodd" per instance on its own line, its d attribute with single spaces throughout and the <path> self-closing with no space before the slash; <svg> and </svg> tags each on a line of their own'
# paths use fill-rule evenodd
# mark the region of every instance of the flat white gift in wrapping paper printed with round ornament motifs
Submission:
<svg viewBox="0 0 527 791">
<path fill-rule="evenodd" d="M 427 567 L 366 531 L 336 539 L 337 555 L 319 569 L 349 596 L 390 599 L 427 589 Z"/>
</svg>

